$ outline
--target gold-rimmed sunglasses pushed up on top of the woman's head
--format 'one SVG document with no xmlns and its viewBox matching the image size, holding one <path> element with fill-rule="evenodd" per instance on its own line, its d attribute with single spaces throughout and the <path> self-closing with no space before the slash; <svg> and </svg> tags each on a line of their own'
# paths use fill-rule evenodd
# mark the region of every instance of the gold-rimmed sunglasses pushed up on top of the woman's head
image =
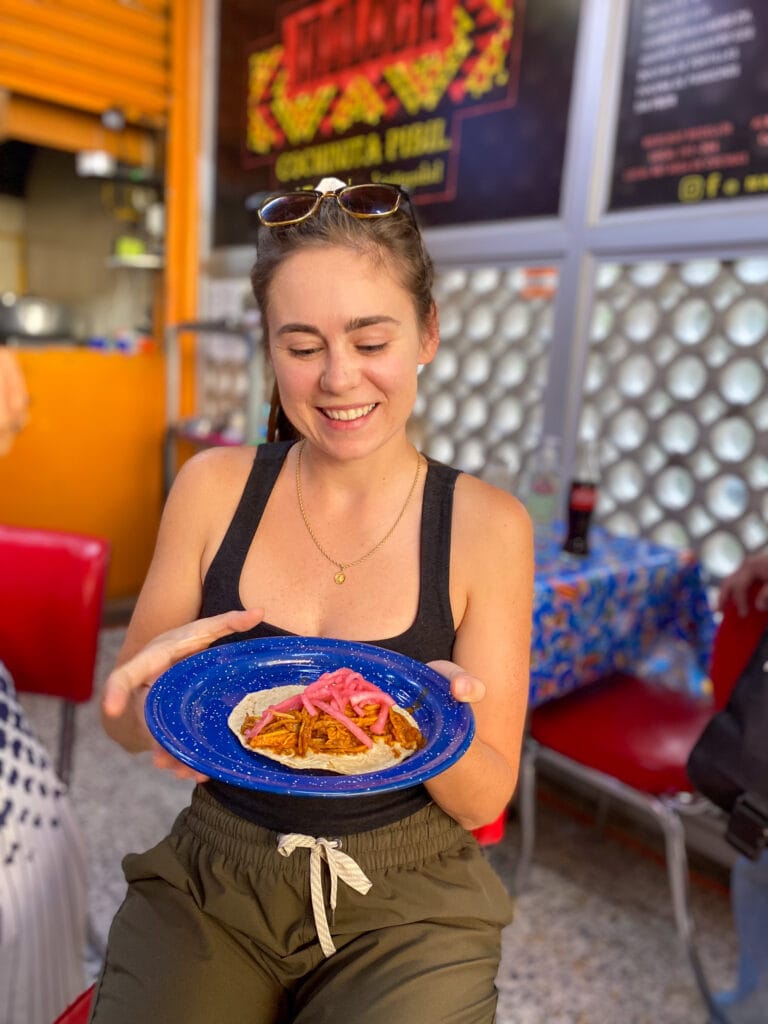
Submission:
<svg viewBox="0 0 768 1024">
<path fill-rule="evenodd" d="M 259 221 L 264 227 L 299 224 L 317 212 L 324 199 L 335 199 L 345 213 L 360 220 L 389 217 L 402 206 L 415 221 L 408 193 L 399 185 L 390 184 L 346 185 L 328 193 L 317 191 L 316 188 L 283 193 L 261 204 Z"/>
</svg>

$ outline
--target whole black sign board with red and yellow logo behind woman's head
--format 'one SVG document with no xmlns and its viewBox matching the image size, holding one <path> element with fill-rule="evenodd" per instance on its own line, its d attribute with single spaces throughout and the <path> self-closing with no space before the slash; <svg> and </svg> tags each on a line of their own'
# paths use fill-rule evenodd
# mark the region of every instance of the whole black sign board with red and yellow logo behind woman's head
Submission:
<svg viewBox="0 0 768 1024">
<path fill-rule="evenodd" d="M 407 186 L 425 226 L 556 215 L 579 7 L 220 0 L 214 245 L 327 176 Z"/>
</svg>

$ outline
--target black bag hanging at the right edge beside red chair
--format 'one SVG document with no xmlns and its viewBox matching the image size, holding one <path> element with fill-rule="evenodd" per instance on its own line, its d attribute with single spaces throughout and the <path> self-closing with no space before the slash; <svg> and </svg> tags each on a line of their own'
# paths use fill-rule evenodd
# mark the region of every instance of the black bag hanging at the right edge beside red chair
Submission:
<svg viewBox="0 0 768 1024">
<path fill-rule="evenodd" d="M 687 769 L 696 788 L 729 813 L 728 842 L 756 860 L 768 840 L 768 630 Z"/>
</svg>

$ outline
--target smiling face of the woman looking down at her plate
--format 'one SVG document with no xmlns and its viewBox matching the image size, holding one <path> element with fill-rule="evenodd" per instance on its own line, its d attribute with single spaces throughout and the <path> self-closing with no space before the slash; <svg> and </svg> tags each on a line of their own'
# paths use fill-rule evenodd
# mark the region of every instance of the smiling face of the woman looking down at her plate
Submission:
<svg viewBox="0 0 768 1024">
<path fill-rule="evenodd" d="M 402 436 L 437 318 L 420 333 L 386 264 L 342 247 L 297 252 L 272 279 L 267 328 L 283 408 L 305 437 L 355 458 Z"/>
</svg>

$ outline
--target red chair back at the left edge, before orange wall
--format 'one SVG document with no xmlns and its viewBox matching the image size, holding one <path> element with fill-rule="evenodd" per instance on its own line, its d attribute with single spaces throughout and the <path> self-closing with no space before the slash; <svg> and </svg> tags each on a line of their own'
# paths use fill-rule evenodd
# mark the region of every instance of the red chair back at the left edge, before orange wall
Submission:
<svg viewBox="0 0 768 1024">
<path fill-rule="evenodd" d="M 0 658 L 16 689 L 93 693 L 109 542 L 0 525 Z"/>
</svg>

